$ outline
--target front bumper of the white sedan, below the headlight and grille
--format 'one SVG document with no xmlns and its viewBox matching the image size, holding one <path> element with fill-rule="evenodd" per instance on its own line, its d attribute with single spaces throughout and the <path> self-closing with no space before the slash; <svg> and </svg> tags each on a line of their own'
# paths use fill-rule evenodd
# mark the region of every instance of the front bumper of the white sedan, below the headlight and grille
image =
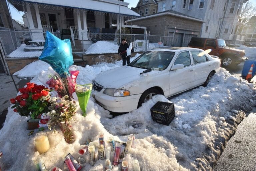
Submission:
<svg viewBox="0 0 256 171">
<path fill-rule="evenodd" d="M 92 96 L 96 100 L 96 102 L 111 112 L 131 112 L 137 109 L 138 102 L 140 99 L 141 94 L 130 95 L 125 97 L 113 97 L 107 94 L 102 93 L 103 90 L 100 92 L 93 91 Z"/>
</svg>

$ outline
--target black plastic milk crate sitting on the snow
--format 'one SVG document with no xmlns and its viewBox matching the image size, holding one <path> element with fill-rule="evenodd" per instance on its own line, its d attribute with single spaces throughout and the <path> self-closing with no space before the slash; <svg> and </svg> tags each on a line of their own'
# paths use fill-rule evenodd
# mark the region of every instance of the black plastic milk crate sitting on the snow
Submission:
<svg viewBox="0 0 256 171">
<path fill-rule="evenodd" d="M 156 104 L 151 107 L 151 118 L 164 125 L 170 125 L 171 121 L 175 116 L 174 103 L 168 102 L 156 102 Z"/>
</svg>

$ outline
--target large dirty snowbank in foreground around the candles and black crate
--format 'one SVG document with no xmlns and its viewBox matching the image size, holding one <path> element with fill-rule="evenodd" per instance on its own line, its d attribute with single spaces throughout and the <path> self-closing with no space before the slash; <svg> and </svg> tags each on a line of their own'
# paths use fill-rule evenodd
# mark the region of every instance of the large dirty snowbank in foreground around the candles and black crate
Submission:
<svg viewBox="0 0 256 171">
<path fill-rule="evenodd" d="M 100 72 L 120 66 L 111 65 L 73 65 L 71 69 L 80 71 L 77 84 L 84 84 L 90 83 Z M 37 77 L 31 82 L 40 84 Z M 28 136 L 28 118 L 21 117 L 9 108 L 4 127 L 0 130 L 3 162 L 7 170 L 33 170 L 32 159 L 39 155 L 34 140 L 37 135 L 43 134 L 48 136 L 51 148 L 40 156 L 47 168 L 57 166 L 64 171 L 67 170 L 63 163 L 64 156 L 71 153 L 78 159 L 78 150 L 87 138 L 98 140 L 98 133 L 103 132 L 105 141 L 109 136 L 114 136 L 115 140 L 126 142 L 127 136 L 134 134 L 136 148 L 126 156 L 126 160 L 131 164 L 132 159 L 137 158 L 141 170 L 187 171 L 197 170 L 199 166 L 203 170 L 210 170 L 211 166 L 204 160 L 204 155 L 214 158 L 216 143 L 227 139 L 226 131 L 233 128 L 230 121 L 236 120 L 241 108 L 250 109 L 255 105 L 252 87 L 253 84 L 222 69 L 220 74 L 212 77 L 207 87 L 193 89 L 170 100 L 175 104 L 176 116 L 169 126 L 151 120 L 150 108 L 157 101 L 169 102 L 163 95 L 154 96 L 140 108 L 112 119 L 112 115 L 91 97 L 87 116 L 82 117 L 78 107 L 74 117 L 72 125 L 76 141 L 73 144 L 64 141 L 57 127 L 56 133 L 49 130 L 38 133 L 35 130 L 33 135 Z M 94 166 L 86 163 L 83 170 L 102 169 L 103 164 L 103 160 L 97 160 Z M 118 167 L 120 170 L 120 164 Z"/>
</svg>

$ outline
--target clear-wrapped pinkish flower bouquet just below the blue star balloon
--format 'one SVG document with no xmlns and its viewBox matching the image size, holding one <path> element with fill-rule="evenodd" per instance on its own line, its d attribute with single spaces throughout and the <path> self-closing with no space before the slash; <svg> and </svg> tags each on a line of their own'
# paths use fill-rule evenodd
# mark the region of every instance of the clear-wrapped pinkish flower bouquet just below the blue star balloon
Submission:
<svg viewBox="0 0 256 171">
<path fill-rule="evenodd" d="M 46 86 L 55 90 L 59 97 L 64 97 L 68 95 L 65 85 L 62 82 L 59 74 L 55 72 L 52 67 L 49 67 L 47 71 L 42 71 L 38 79 Z"/>
</svg>

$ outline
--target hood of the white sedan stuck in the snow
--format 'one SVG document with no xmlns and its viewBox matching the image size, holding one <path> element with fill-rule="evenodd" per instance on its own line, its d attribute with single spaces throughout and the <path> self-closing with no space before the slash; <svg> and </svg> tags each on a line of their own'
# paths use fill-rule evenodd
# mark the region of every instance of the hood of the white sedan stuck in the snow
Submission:
<svg viewBox="0 0 256 171">
<path fill-rule="evenodd" d="M 102 85 L 104 88 L 120 88 L 132 81 L 140 79 L 140 77 L 145 77 L 156 72 L 161 71 L 151 71 L 144 74 L 140 74 L 146 69 L 135 68 L 131 66 L 122 66 L 119 68 L 114 68 L 99 74 L 95 81 Z"/>
</svg>

